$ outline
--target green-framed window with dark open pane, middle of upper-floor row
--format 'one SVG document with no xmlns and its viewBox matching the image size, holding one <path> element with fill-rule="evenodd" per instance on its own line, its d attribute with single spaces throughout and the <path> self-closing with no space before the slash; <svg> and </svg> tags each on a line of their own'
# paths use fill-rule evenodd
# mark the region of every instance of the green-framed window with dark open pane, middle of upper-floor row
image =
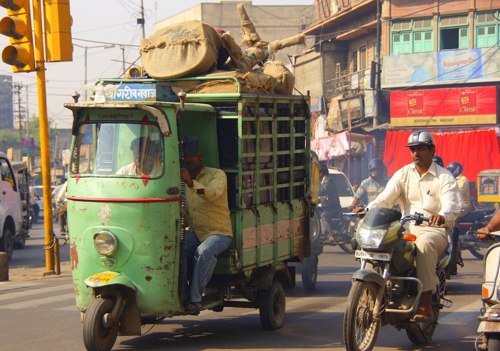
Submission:
<svg viewBox="0 0 500 351">
<path fill-rule="evenodd" d="M 468 18 L 468 14 L 439 17 L 439 50 L 469 48 Z"/>
</svg>

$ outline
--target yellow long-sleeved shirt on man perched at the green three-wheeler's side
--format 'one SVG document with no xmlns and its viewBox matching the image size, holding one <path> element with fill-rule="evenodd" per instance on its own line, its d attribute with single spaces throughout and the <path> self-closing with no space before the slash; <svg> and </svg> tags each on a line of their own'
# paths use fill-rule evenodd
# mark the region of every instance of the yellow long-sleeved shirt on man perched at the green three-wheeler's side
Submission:
<svg viewBox="0 0 500 351">
<path fill-rule="evenodd" d="M 213 234 L 232 237 L 227 205 L 227 177 L 217 168 L 203 166 L 193 186 L 186 186 L 187 225 L 199 241 Z"/>
</svg>

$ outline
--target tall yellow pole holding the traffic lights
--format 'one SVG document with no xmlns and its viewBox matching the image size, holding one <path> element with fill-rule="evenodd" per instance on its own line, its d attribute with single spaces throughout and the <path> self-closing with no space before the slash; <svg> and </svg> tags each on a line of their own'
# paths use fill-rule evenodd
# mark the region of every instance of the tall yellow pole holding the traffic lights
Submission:
<svg viewBox="0 0 500 351">
<path fill-rule="evenodd" d="M 41 1 L 33 0 L 33 27 L 36 61 L 36 83 L 38 87 L 38 114 L 40 123 L 41 177 L 43 184 L 43 222 L 45 228 L 45 273 L 60 274 L 59 246 L 52 227 L 52 191 L 50 183 L 50 148 L 48 142 L 47 96 L 45 89 L 45 58 L 43 56 L 43 31 Z M 54 255 L 57 267 L 54 270 Z"/>
</svg>

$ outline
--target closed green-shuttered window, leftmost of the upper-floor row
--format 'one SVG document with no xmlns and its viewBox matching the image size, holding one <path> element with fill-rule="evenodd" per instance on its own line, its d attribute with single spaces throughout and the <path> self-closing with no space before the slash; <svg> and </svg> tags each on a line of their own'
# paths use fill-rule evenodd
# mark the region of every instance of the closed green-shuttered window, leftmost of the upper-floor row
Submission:
<svg viewBox="0 0 500 351">
<path fill-rule="evenodd" d="M 413 18 L 391 23 L 391 52 L 433 51 L 432 18 Z"/>
</svg>

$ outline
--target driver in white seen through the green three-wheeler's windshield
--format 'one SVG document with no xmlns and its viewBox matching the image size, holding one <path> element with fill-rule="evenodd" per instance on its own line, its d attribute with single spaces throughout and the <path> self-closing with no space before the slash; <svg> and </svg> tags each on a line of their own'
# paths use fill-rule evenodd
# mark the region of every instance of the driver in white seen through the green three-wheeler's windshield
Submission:
<svg viewBox="0 0 500 351">
<path fill-rule="evenodd" d="M 147 151 L 144 149 L 147 147 Z M 130 142 L 133 161 L 116 171 L 115 174 L 122 175 L 151 175 L 161 174 L 161 164 L 155 161 L 154 153 L 157 151 L 157 143 L 146 136 L 139 136 Z"/>
</svg>

